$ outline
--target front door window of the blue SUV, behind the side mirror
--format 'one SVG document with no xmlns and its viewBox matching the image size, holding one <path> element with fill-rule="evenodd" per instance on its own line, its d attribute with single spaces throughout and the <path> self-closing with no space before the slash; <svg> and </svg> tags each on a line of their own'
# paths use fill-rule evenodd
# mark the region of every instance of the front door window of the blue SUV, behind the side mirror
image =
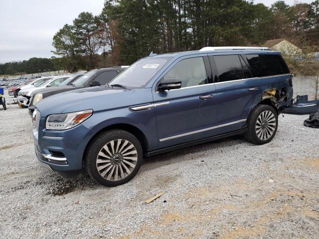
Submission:
<svg viewBox="0 0 319 239">
<path fill-rule="evenodd" d="M 164 78 L 168 77 L 179 78 L 181 80 L 181 88 L 208 83 L 204 60 L 202 57 L 181 60 L 164 76 Z"/>
</svg>

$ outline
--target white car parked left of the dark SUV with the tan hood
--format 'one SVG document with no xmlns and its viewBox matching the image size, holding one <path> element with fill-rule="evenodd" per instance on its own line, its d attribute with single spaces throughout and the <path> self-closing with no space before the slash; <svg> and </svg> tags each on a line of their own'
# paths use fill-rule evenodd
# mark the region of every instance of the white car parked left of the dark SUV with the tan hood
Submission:
<svg viewBox="0 0 319 239">
<path fill-rule="evenodd" d="M 50 87 L 50 86 L 58 86 L 60 85 L 63 81 L 68 79 L 71 75 L 63 75 L 63 76 L 56 76 L 56 77 L 51 77 L 52 79 L 48 81 L 44 81 L 41 84 L 34 86 L 34 87 L 29 87 L 26 89 L 21 89 L 18 93 L 18 104 L 19 106 L 22 107 L 27 107 L 29 105 L 29 100 L 30 96 L 33 91 L 43 89 L 45 87 Z"/>
</svg>

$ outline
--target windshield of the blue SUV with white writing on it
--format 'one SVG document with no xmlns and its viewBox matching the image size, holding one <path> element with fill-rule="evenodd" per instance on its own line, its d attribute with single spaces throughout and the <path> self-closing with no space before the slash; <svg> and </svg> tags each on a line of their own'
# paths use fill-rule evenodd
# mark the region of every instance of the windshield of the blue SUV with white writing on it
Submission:
<svg viewBox="0 0 319 239">
<path fill-rule="evenodd" d="M 109 85 L 143 88 L 170 59 L 171 57 L 141 59 L 114 78 Z"/>
</svg>

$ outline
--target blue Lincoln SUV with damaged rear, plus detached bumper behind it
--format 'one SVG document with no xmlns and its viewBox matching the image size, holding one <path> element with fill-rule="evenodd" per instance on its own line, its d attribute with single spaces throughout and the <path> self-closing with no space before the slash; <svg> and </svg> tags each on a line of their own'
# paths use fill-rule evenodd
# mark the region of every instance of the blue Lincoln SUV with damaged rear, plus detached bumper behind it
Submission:
<svg viewBox="0 0 319 239">
<path fill-rule="evenodd" d="M 64 175 L 87 170 L 116 186 L 144 156 L 235 134 L 255 144 L 276 134 L 278 114 L 309 114 L 319 101 L 293 100 L 280 52 L 205 47 L 152 54 L 109 84 L 48 97 L 35 105 L 33 135 L 42 166 Z"/>
</svg>

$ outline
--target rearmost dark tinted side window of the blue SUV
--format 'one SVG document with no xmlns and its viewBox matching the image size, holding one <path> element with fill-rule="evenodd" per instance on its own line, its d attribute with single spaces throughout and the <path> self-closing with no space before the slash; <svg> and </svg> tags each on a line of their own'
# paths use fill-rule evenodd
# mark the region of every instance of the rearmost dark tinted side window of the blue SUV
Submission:
<svg viewBox="0 0 319 239">
<path fill-rule="evenodd" d="M 281 55 L 252 54 L 246 56 L 255 77 L 290 73 Z"/>
</svg>

